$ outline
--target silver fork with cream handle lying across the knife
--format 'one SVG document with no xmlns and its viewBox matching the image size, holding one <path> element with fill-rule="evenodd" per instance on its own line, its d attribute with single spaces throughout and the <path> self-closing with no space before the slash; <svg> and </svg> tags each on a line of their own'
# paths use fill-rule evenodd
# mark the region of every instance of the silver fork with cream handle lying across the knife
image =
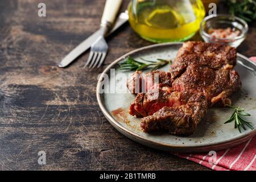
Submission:
<svg viewBox="0 0 256 182">
<path fill-rule="evenodd" d="M 122 0 L 106 0 L 104 13 L 101 18 L 101 35 L 90 47 L 90 54 L 84 68 L 88 65 L 89 68 L 95 68 L 97 65 L 97 68 L 100 68 L 101 64 L 104 62 L 109 49 L 104 37 L 113 25 L 121 3 Z"/>
</svg>

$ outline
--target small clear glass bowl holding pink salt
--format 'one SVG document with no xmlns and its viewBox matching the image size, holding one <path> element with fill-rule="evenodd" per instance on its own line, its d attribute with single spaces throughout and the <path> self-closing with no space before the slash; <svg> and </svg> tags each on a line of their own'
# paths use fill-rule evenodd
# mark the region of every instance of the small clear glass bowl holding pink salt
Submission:
<svg viewBox="0 0 256 182">
<path fill-rule="evenodd" d="M 232 28 L 240 31 L 234 38 L 216 38 L 208 34 L 211 29 Z M 200 35 L 205 42 L 217 42 L 229 44 L 232 47 L 238 47 L 246 38 L 248 25 L 245 20 L 237 16 L 218 14 L 206 16 L 200 24 Z"/>
</svg>

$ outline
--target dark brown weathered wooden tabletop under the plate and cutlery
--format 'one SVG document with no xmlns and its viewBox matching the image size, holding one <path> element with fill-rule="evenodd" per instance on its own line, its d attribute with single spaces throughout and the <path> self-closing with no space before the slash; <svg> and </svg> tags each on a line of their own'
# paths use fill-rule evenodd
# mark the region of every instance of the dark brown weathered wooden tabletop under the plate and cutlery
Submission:
<svg viewBox="0 0 256 182">
<path fill-rule="evenodd" d="M 38 3 L 47 17 L 38 17 Z M 126 24 L 108 38 L 104 67 L 56 64 L 97 30 L 105 0 L 0 1 L 0 169 L 206 170 L 118 133 L 96 100 L 97 76 L 119 56 L 148 43 Z M 125 10 L 129 1 L 125 1 Z M 239 52 L 253 56 L 255 24 Z M 46 165 L 38 152 L 46 152 Z"/>
</svg>

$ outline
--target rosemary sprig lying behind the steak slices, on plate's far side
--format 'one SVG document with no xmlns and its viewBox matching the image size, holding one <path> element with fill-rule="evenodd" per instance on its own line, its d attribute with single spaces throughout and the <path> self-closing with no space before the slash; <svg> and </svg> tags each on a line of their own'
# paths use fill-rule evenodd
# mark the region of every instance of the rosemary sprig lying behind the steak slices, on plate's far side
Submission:
<svg viewBox="0 0 256 182">
<path fill-rule="evenodd" d="M 142 59 L 142 58 L 141 58 Z M 166 64 L 171 64 L 171 60 L 157 59 L 157 61 L 149 61 L 142 59 L 143 62 L 134 60 L 130 56 L 126 61 L 119 64 L 119 68 L 126 71 L 141 71 L 151 68 L 151 71 L 164 67 Z"/>
</svg>

